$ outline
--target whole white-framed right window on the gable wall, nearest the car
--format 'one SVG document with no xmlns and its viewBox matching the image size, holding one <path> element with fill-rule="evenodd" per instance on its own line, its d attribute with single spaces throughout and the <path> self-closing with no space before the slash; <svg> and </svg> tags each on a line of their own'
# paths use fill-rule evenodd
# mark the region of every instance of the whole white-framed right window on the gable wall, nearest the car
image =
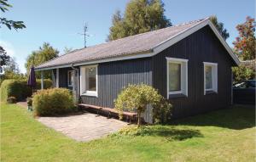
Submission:
<svg viewBox="0 0 256 162">
<path fill-rule="evenodd" d="M 204 94 L 218 92 L 218 64 L 204 62 Z"/>
</svg>

